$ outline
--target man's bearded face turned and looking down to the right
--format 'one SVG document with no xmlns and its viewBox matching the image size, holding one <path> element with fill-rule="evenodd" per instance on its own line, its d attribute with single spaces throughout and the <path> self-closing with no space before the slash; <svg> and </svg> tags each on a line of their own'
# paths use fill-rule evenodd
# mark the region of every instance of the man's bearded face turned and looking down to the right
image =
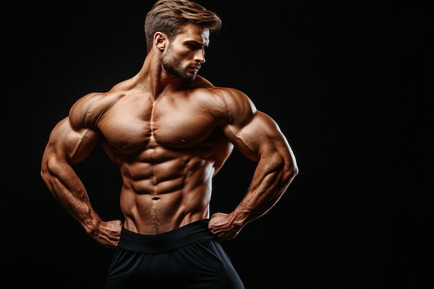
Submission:
<svg viewBox="0 0 434 289">
<path fill-rule="evenodd" d="M 208 28 L 186 24 L 183 32 L 175 36 L 164 54 L 164 69 L 181 80 L 195 80 L 200 65 L 205 62 L 205 48 L 208 44 Z"/>
</svg>

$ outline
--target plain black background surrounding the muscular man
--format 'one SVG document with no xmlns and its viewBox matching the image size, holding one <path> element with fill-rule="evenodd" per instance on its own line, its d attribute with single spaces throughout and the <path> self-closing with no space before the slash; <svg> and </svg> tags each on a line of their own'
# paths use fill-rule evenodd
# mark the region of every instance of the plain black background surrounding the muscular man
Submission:
<svg viewBox="0 0 434 289">
<path fill-rule="evenodd" d="M 2 279 L 6 288 L 103 288 L 113 254 L 40 179 L 49 132 L 80 96 L 134 76 L 153 1 L 3 3 Z M 201 69 L 270 114 L 300 175 L 266 216 L 223 243 L 247 289 L 434 288 L 433 6 L 419 1 L 198 1 L 224 26 Z M 117 168 L 76 166 L 105 220 Z M 231 211 L 254 163 L 214 179 Z"/>
</svg>

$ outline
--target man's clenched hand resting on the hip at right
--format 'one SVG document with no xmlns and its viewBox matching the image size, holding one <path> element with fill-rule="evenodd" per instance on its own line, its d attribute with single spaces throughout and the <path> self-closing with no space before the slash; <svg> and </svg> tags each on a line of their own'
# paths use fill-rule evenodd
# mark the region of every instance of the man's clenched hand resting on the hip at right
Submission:
<svg viewBox="0 0 434 289">
<path fill-rule="evenodd" d="M 208 229 L 219 241 L 235 238 L 242 227 L 236 227 L 232 216 L 227 213 L 214 213 L 209 219 Z"/>
</svg>

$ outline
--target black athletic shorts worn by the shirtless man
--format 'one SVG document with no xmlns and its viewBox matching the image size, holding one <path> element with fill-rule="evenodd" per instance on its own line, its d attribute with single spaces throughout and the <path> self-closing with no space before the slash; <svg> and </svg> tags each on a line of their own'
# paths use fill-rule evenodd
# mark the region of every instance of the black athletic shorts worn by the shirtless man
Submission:
<svg viewBox="0 0 434 289">
<path fill-rule="evenodd" d="M 157 235 L 123 228 L 105 289 L 243 289 L 208 221 Z"/>
</svg>

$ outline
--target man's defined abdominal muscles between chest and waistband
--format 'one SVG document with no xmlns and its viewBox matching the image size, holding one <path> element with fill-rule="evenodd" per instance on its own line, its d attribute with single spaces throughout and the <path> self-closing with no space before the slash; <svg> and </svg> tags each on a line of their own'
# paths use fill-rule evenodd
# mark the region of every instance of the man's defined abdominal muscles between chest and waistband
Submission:
<svg viewBox="0 0 434 289">
<path fill-rule="evenodd" d="M 203 150 L 147 148 L 120 164 L 124 227 L 161 234 L 209 218 L 214 161 Z"/>
</svg>

